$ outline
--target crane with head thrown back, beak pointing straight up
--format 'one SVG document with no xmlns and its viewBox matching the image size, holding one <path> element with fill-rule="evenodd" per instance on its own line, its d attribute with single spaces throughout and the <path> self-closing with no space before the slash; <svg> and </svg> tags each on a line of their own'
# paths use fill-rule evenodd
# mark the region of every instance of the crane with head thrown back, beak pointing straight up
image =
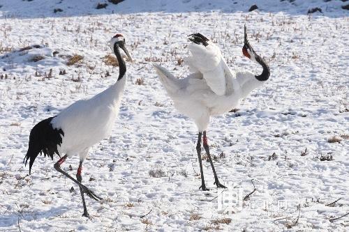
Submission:
<svg viewBox="0 0 349 232">
<path fill-rule="evenodd" d="M 198 143 L 196 150 L 201 173 L 201 189 L 208 190 L 205 185 L 201 160 L 201 137 L 207 153 L 211 169 L 214 173 L 214 184 L 225 187 L 219 183 L 214 164 L 209 154 L 207 143 L 207 126 L 211 116 L 224 114 L 236 107 L 241 98 L 245 98 L 253 89 L 262 86 L 269 79 L 269 66 L 262 57 L 255 53 L 247 40 L 246 26 L 244 27 L 244 47 L 242 53 L 248 59 L 262 65 L 261 75 L 252 72 L 232 72 L 225 63 L 220 49 L 211 40 L 194 33 L 188 36 L 193 44 L 188 45 L 191 56 L 185 59 L 191 73 L 188 77 L 177 79 L 168 70 L 160 65 L 154 65 L 160 80 L 174 107 L 189 118 L 193 118 L 198 127 Z"/>
</svg>

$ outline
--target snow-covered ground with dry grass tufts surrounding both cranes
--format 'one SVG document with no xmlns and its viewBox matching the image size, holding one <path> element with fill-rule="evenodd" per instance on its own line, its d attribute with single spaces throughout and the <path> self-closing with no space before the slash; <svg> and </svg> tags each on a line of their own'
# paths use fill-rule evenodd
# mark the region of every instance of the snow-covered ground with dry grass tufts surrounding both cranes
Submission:
<svg viewBox="0 0 349 232">
<path fill-rule="evenodd" d="M 0 231 L 348 231 L 348 215 L 331 221 L 349 212 L 346 3 L 174 2 L 96 10 L 92 0 L 0 0 Z M 248 13 L 253 3 L 260 10 Z M 315 7 L 322 13 L 306 14 Z M 185 76 L 186 35 L 200 32 L 230 68 L 258 73 L 242 56 L 244 24 L 272 75 L 238 111 L 212 119 L 211 153 L 229 188 L 214 187 L 205 162 L 211 191 L 202 192 L 196 127 L 174 109 L 151 63 Z M 38 157 L 28 176 L 22 160 L 31 127 L 116 81 L 118 68 L 104 62 L 115 33 L 135 62 L 112 137 L 84 162 L 84 184 L 103 197 L 87 198 L 87 219 L 78 187 L 54 162 Z M 74 55 L 83 58 L 67 65 Z M 78 162 L 64 169 L 74 176 Z"/>
</svg>

